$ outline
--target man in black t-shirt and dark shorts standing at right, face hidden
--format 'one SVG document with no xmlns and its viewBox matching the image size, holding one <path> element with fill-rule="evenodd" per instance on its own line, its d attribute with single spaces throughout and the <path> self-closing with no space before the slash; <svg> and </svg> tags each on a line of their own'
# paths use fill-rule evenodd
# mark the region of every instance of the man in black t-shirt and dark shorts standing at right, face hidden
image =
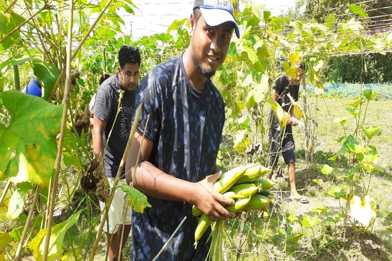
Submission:
<svg viewBox="0 0 392 261">
<path fill-rule="evenodd" d="M 301 203 L 308 203 L 309 199 L 301 196 L 296 188 L 296 154 L 295 142 L 292 136 L 292 126 L 297 126 L 300 122 L 294 117 L 293 107 L 291 106 L 291 97 L 298 101 L 298 94 L 300 89 L 300 82 L 305 74 L 305 63 L 302 62 L 297 69 L 297 78 L 293 79 L 291 76 L 283 75 L 276 80 L 273 87 L 272 99 L 277 101 L 285 111 L 287 117 L 287 125 L 283 132 L 281 132 L 280 124 L 273 111 L 269 113 L 267 124 L 269 128 L 269 139 L 271 140 L 271 154 L 269 155 L 269 165 L 276 167 L 279 159 L 279 153 L 282 153 L 284 162 L 288 167 L 288 178 L 290 180 L 290 198 Z M 271 179 L 273 172 L 268 174 Z"/>
</svg>

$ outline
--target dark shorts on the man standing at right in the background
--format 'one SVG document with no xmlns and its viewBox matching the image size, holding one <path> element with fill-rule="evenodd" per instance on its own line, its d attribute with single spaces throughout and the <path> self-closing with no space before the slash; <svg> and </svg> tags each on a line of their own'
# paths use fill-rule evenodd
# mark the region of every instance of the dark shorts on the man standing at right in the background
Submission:
<svg viewBox="0 0 392 261">
<path fill-rule="evenodd" d="M 277 129 L 269 129 L 270 154 L 269 166 L 275 167 L 279 160 L 279 154 L 282 153 L 286 164 L 296 162 L 296 144 L 292 137 L 292 126 L 287 125 L 282 134 Z M 283 139 L 283 141 L 282 141 Z"/>
</svg>

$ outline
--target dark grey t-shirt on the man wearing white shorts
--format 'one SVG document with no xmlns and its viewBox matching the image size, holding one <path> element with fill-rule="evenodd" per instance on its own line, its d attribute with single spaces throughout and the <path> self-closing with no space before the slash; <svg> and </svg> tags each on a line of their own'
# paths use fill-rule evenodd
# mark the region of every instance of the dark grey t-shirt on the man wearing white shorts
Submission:
<svg viewBox="0 0 392 261">
<path fill-rule="evenodd" d="M 104 148 L 109 137 L 114 119 L 117 113 L 118 99 L 120 95 L 120 83 L 118 74 L 109 77 L 96 91 L 95 103 L 92 113 L 102 121 L 106 122 L 103 135 Z M 112 134 L 106 148 L 104 157 L 105 174 L 107 177 L 115 177 L 120 165 L 122 154 L 127 146 L 129 133 L 132 125 L 132 115 L 135 108 L 136 91 L 124 91 L 120 102 L 120 111 L 114 123 Z M 125 177 L 122 170 L 121 178 Z"/>
</svg>

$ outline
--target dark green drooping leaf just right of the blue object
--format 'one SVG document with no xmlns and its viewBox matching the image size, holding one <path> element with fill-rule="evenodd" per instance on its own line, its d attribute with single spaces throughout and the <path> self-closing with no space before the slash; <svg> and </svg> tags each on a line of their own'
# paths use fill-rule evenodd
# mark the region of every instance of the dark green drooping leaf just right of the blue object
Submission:
<svg viewBox="0 0 392 261">
<path fill-rule="evenodd" d="M 43 99 L 46 100 L 51 94 L 53 87 L 60 75 L 59 69 L 50 63 L 34 64 L 34 75 L 41 81 L 44 87 Z"/>
</svg>

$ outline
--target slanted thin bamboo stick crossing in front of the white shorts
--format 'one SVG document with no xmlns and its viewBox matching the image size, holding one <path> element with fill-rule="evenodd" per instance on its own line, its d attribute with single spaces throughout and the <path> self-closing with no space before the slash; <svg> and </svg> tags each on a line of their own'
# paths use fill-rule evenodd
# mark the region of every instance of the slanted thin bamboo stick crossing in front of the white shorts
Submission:
<svg viewBox="0 0 392 261">
<path fill-rule="evenodd" d="M 140 117 L 142 106 L 143 106 L 143 104 L 140 103 L 139 107 L 136 110 L 135 119 L 134 119 L 133 124 L 132 124 L 131 133 L 129 135 L 127 147 L 125 148 L 124 154 L 122 155 L 122 159 L 121 159 L 121 162 L 120 162 L 120 166 L 118 167 L 116 177 L 113 180 L 113 187 L 117 186 L 118 179 L 120 178 L 122 169 L 124 169 L 125 161 L 126 161 L 127 155 L 128 155 L 128 151 L 129 151 L 129 149 L 130 149 L 130 147 L 132 145 L 133 138 L 135 137 L 137 122 L 138 122 L 139 117 Z M 103 230 L 104 225 L 105 225 L 106 217 L 108 216 L 108 212 L 109 212 L 110 204 L 112 203 L 112 200 L 113 200 L 113 196 L 114 196 L 114 193 L 110 193 L 108 201 L 106 201 L 105 214 L 104 214 L 104 216 L 103 216 L 103 218 L 101 220 L 100 226 L 98 228 L 98 231 L 97 231 L 97 234 L 96 234 L 96 238 L 95 238 L 95 241 L 94 241 L 94 245 L 92 246 L 92 250 L 91 250 L 91 254 L 90 254 L 90 258 L 89 258 L 90 261 L 93 260 L 95 252 L 96 252 L 96 248 L 98 247 L 98 243 L 100 242 L 102 230 Z"/>
</svg>

